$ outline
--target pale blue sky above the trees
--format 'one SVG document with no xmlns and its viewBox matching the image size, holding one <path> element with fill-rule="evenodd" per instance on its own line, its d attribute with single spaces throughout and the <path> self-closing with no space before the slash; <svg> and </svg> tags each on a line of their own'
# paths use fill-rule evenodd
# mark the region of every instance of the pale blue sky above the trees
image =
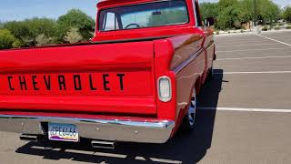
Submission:
<svg viewBox="0 0 291 164">
<path fill-rule="evenodd" d="M 98 0 L 0 0 L 0 21 L 23 20 L 31 17 L 57 18 L 69 9 L 78 8 L 95 17 Z M 217 0 L 200 0 L 217 2 Z M 281 7 L 290 5 L 290 0 L 274 0 Z"/>
</svg>

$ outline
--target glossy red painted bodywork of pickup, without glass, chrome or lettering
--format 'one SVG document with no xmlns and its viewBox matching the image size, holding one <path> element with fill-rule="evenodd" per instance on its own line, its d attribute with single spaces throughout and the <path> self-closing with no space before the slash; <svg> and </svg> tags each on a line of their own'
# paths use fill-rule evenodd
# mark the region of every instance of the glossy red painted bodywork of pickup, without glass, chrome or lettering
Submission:
<svg viewBox="0 0 291 164">
<path fill-rule="evenodd" d="M 97 6 L 100 12 L 106 7 L 147 2 L 155 0 L 106 0 Z M 110 32 L 99 32 L 96 26 L 92 43 L 0 51 L 0 108 L 3 108 L 0 114 L 167 119 L 176 121 L 175 132 L 186 115 L 192 90 L 204 83 L 215 53 L 213 31 L 195 27 L 192 3 L 186 0 L 190 22 L 185 25 Z M 167 38 L 130 41 L 165 36 Z M 108 41 L 121 43 L 102 44 Z M 192 62 L 176 72 L 177 67 L 195 54 Z M 125 75 L 123 89 L 117 74 Z M 59 88 L 60 75 L 65 77 L 66 90 Z M 82 79 L 82 90 L 75 89 L 75 75 Z M 91 89 L 90 75 L 96 90 Z M 107 87 L 110 90 L 104 87 L 103 75 L 109 76 Z M 50 90 L 45 86 L 45 76 L 51 77 Z M 173 98 L 166 103 L 157 98 L 156 91 L 157 79 L 163 76 L 170 77 L 173 87 Z M 9 87 L 8 77 L 12 77 L 11 85 L 15 90 Z M 27 90 L 21 89 L 19 77 L 25 77 Z M 48 110 L 50 112 L 46 112 Z M 80 112 L 83 114 L 74 114 Z M 86 115 L 86 112 L 95 115 Z M 139 117 L 130 117 L 135 114 Z"/>
</svg>

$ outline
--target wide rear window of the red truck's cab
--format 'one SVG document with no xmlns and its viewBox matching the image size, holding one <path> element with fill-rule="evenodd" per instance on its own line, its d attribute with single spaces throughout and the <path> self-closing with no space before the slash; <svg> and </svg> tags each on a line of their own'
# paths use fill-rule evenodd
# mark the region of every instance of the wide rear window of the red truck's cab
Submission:
<svg viewBox="0 0 291 164">
<path fill-rule="evenodd" d="M 99 15 L 99 30 L 124 30 L 188 23 L 184 0 L 172 0 L 142 5 L 105 9 Z"/>
</svg>

